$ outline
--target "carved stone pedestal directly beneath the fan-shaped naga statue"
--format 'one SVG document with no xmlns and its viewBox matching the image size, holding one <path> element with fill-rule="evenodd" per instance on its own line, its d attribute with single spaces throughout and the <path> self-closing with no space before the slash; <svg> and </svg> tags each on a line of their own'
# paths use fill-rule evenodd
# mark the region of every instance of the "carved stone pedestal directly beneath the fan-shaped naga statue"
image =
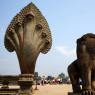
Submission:
<svg viewBox="0 0 95 95">
<path fill-rule="evenodd" d="M 32 74 L 22 74 L 19 76 L 18 84 L 20 85 L 20 91 L 18 95 L 32 95 Z"/>
</svg>

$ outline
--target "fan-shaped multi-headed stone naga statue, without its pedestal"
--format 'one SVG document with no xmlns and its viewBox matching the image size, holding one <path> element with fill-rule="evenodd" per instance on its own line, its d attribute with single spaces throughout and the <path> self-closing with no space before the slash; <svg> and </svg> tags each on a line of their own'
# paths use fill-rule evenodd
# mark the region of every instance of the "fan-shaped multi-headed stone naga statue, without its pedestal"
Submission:
<svg viewBox="0 0 95 95">
<path fill-rule="evenodd" d="M 33 74 L 38 55 L 52 45 L 51 31 L 39 9 L 30 3 L 11 21 L 4 39 L 9 52 L 16 51 L 22 74 Z"/>
</svg>

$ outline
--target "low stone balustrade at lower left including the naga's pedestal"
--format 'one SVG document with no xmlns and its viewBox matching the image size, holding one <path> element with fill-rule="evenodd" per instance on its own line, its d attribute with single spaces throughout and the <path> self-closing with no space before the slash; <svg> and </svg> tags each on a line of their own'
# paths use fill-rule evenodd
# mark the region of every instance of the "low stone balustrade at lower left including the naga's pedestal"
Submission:
<svg viewBox="0 0 95 95">
<path fill-rule="evenodd" d="M 32 74 L 0 76 L 0 95 L 32 95 L 32 83 Z"/>
</svg>

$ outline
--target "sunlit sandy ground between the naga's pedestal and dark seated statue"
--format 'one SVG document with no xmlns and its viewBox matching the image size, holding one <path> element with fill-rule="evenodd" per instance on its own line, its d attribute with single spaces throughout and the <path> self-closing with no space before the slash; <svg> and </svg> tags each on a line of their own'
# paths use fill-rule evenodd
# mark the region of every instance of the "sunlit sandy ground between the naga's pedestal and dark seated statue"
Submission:
<svg viewBox="0 0 95 95">
<path fill-rule="evenodd" d="M 34 90 L 33 95 L 68 95 L 68 92 L 72 91 L 71 85 L 68 84 L 38 86 L 38 89 Z"/>
</svg>

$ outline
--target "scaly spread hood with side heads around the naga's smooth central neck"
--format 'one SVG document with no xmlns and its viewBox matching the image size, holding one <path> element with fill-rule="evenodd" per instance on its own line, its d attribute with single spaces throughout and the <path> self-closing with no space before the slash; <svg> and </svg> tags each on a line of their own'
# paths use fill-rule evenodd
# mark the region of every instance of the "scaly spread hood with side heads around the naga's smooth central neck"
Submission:
<svg viewBox="0 0 95 95">
<path fill-rule="evenodd" d="M 13 52 L 14 50 L 20 50 L 21 44 L 23 44 L 24 41 L 25 33 L 23 24 L 25 19 L 27 18 L 29 20 L 34 20 L 35 29 L 33 30 L 36 32 L 36 34 L 38 33 L 37 37 L 40 38 L 40 52 L 44 54 L 47 53 L 52 45 L 51 31 L 46 19 L 33 3 L 30 3 L 26 7 L 24 7 L 11 21 L 5 34 L 5 48 L 10 52 Z"/>
</svg>

